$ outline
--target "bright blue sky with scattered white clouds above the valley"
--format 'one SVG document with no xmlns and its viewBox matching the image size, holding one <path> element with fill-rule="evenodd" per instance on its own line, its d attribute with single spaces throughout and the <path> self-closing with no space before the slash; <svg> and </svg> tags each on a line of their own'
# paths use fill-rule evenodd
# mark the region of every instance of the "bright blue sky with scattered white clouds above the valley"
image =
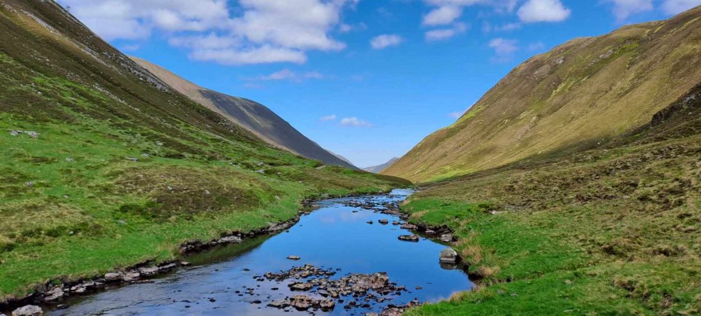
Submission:
<svg viewBox="0 0 701 316">
<path fill-rule="evenodd" d="M 701 0 L 58 0 L 116 48 L 266 105 L 357 166 L 452 124 L 513 67 Z"/>
</svg>

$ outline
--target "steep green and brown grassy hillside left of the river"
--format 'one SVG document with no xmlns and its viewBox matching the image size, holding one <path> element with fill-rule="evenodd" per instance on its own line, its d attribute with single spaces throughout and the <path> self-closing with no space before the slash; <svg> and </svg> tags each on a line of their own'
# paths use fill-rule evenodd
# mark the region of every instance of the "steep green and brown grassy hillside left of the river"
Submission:
<svg viewBox="0 0 701 316">
<path fill-rule="evenodd" d="M 409 185 L 267 145 L 53 1 L 0 0 L 0 131 L 0 302 Z"/>
</svg>

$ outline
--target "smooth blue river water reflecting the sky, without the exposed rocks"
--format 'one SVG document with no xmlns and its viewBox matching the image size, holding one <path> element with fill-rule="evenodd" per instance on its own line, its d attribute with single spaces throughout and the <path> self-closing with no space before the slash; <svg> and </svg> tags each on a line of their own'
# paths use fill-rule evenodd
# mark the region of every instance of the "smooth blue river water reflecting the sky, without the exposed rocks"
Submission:
<svg viewBox="0 0 701 316">
<path fill-rule="evenodd" d="M 397 202 L 410 194 L 409 190 L 394 190 L 389 195 L 318 202 L 319 209 L 303 216 L 289 232 L 190 256 L 186 261 L 193 265 L 188 268 L 151 282 L 75 298 L 68 302 L 69 308 L 48 315 L 364 315 L 380 312 L 388 304 L 404 305 L 414 298 L 437 301 L 470 289 L 465 272 L 441 268 L 439 253 L 446 246 L 423 237 L 419 242 L 402 242 L 397 237 L 411 232 L 391 224 L 400 220 L 396 216 L 343 205 L 350 200 Z M 390 224 L 379 224 L 383 218 Z M 370 225 L 368 220 L 374 223 Z M 290 261 L 287 256 L 299 256 L 301 260 Z M 254 276 L 305 264 L 340 269 L 332 279 L 350 273 L 387 272 L 390 282 L 409 291 L 391 296 L 390 301 L 374 303 L 371 308 L 345 310 L 338 302 L 332 312 L 267 307 L 286 296 L 315 294 L 292 292 L 287 281 L 259 282 Z M 253 294 L 247 294 L 247 289 L 253 289 Z"/>
</svg>

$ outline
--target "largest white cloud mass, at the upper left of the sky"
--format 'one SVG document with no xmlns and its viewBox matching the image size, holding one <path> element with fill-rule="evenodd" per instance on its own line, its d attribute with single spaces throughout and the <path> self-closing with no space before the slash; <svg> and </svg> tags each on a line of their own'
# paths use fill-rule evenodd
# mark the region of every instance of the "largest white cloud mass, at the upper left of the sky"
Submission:
<svg viewBox="0 0 701 316">
<path fill-rule="evenodd" d="M 105 39 L 161 31 L 196 60 L 224 65 L 306 62 L 307 51 L 340 51 L 331 37 L 358 0 L 59 0 Z M 232 15 L 236 12 L 236 16 Z"/>
</svg>

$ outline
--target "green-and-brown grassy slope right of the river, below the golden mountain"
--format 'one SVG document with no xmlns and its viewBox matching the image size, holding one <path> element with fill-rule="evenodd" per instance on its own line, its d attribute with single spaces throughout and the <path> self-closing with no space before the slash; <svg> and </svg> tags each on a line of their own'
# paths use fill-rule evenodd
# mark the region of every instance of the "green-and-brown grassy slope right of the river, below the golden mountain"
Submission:
<svg viewBox="0 0 701 316">
<path fill-rule="evenodd" d="M 402 208 L 454 228 L 484 278 L 409 315 L 698 315 L 701 84 L 597 149 L 435 183 Z"/>
</svg>

